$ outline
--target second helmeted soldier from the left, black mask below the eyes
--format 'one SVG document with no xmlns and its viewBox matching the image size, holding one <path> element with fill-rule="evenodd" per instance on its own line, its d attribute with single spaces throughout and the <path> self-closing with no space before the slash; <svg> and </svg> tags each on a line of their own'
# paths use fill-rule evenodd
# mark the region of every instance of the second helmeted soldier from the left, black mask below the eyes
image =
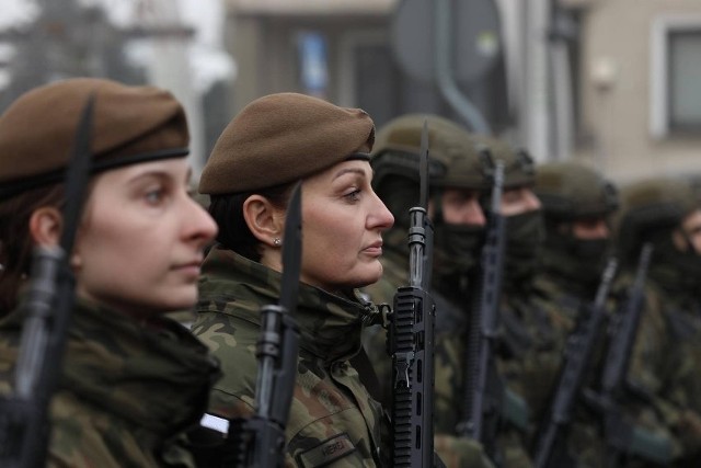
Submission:
<svg viewBox="0 0 701 468">
<path fill-rule="evenodd" d="M 536 167 L 528 153 L 504 141 L 480 137 L 495 161 L 505 164 L 501 215 L 505 219 L 505 254 L 498 309 L 497 373 L 509 391 L 504 393 L 497 438 L 498 463 L 525 467 L 532 461 L 520 447 L 531 436 L 547 407 L 562 358 L 561 333 L 551 312 L 537 300 L 535 283 L 544 240 L 542 206 L 533 193 Z M 491 199 L 483 198 L 489 210 Z M 489 216 L 489 215 L 487 215 Z M 464 340 L 456 335 L 455 340 Z M 464 346 L 464 344 L 463 344 Z M 494 391 L 494 390 L 492 390 Z M 515 449 L 518 447 L 519 449 Z"/>
</svg>

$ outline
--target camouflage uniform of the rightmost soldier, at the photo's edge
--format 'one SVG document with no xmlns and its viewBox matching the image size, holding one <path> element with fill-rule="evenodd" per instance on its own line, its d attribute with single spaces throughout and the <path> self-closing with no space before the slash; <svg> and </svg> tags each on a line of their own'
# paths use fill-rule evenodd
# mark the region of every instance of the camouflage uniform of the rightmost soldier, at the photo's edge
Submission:
<svg viewBox="0 0 701 468">
<path fill-rule="evenodd" d="M 651 269 L 651 275 L 657 269 Z M 631 385 L 646 398 L 630 411 L 644 427 L 673 438 L 676 464 L 694 466 L 701 456 L 701 395 L 696 387 L 701 328 L 699 317 L 691 313 L 698 309 L 691 308 L 688 295 L 665 290 L 651 275 L 628 374 Z M 624 297 L 631 283 L 632 274 L 621 277 L 619 297 Z"/>
</svg>

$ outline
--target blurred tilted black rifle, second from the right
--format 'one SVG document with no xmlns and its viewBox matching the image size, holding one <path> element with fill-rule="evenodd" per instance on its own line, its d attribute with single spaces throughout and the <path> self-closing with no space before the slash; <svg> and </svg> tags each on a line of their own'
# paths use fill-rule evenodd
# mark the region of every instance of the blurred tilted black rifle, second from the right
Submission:
<svg viewBox="0 0 701 468">
<path fill-rule="evenodd" d="M 567 340 L 565 363 L 558 381 L 555 396 L 544 430 L 536 443 L 533 461 L 536 468 L 555 468 L 568 465 L 565 461 L 566 444 L 562 434 L 572 422 L 572 410 L 582 393 L 585 376 L 598 342 L 601 324 L 606 319 L 606 299 L 618 269 L 618 261 L 610 259 L 601 275 L 594 304 L 587 307 L 587 317 L 581 318 L 579 327 Z"/>
</svg>

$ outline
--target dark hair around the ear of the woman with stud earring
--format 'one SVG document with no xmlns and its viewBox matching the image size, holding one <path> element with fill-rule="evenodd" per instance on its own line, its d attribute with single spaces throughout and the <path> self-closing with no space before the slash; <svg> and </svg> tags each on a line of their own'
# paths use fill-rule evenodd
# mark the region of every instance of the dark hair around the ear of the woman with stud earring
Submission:
<svg viewBox="0 0 701 468">
<path fill-rule="evenodd" d="M 295 183 L 226 195 L 210 195 L 209 214 L 217 221 L 217 242 L 254 262 L 261 261 L 261 241 L 253 236 L 243 217 L 243 203 L 251 195 L 267 198 L 275 207 L 286 208 Z"/>
</svg>

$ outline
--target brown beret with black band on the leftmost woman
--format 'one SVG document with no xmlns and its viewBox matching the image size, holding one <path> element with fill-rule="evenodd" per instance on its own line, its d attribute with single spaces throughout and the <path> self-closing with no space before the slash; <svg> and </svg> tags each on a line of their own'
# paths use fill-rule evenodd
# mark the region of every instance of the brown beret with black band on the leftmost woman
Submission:
<svg viewBox="0 0 701 468">
<path fill-rule="evenodd" d="M 3 198 L 62 180 L 91 94 L 93 173 L 187 155 L 185 114 L 168 91 L 97 78 L 67 79 L 26 92 L 0 116 Z"/>
</svg>

